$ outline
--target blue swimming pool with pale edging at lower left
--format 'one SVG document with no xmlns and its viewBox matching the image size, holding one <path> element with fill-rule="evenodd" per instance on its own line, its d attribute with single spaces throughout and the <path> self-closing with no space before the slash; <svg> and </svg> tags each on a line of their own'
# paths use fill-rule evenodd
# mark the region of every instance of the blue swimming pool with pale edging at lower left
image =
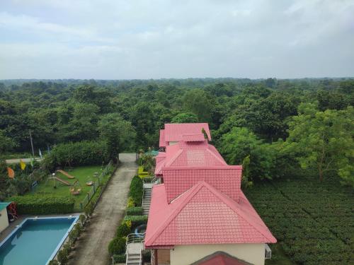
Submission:
<svg viewBox="0 0 354 265">
<path fill-rule="evenodd" d="M 79 217 L 26 218 L 0 243 L 0 265 L 45 265 Z"/>
</svg>

